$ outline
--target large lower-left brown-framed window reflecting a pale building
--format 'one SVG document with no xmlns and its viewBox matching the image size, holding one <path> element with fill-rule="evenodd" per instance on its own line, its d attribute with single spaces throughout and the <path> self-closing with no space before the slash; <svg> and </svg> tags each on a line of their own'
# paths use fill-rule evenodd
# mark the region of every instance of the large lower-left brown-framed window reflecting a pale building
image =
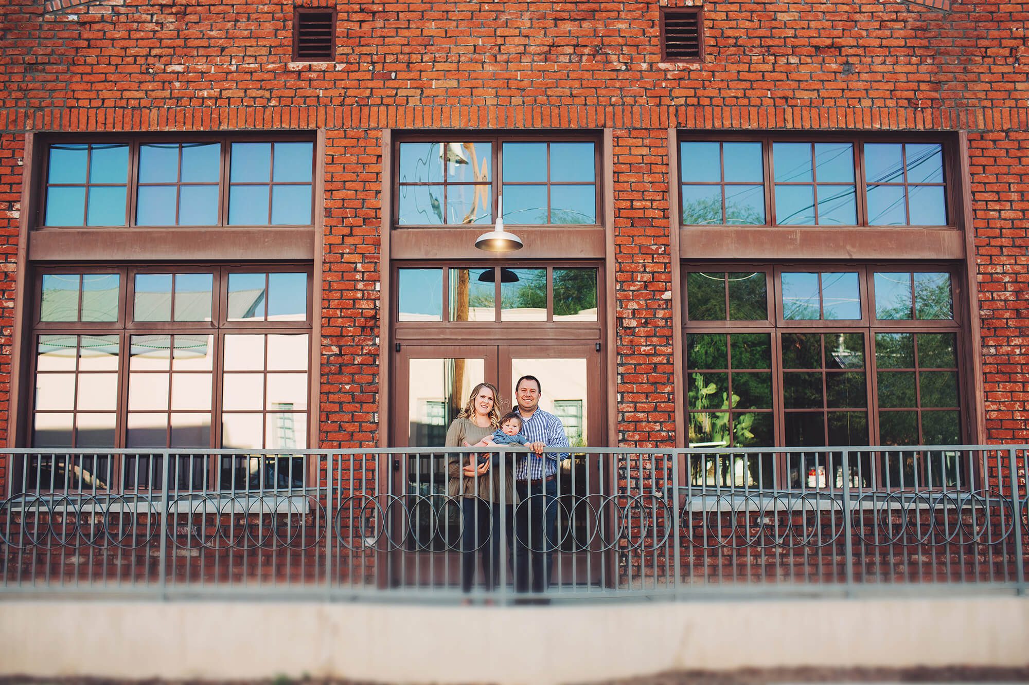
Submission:
<svg viewBox="0 0 1029 685">
<path fill-rule="evenodd" d="M 304 265 L 40 268 L 31 446 L 306 448 L 311 283 Z M 102 488 L 154 485 L 153 460 L 142 461 L 104 458 L 87 470 Z M 189 463 L 179 488 L 303 480 L 298 460 L 272 476 L 250 473 L 247 460 Z M 58 475 L 31 479 L 45 486 Z M 62 477 L 71 475 L 90 484 L 81 468 Z"/>
</svg>

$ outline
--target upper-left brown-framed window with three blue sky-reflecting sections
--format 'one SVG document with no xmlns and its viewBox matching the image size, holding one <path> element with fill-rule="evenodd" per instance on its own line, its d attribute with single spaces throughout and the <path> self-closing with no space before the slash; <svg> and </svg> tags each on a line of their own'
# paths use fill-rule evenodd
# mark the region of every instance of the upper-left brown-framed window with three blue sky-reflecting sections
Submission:
<svg viewBox="0 0 1029 685">
<path fill-rule="evenodd" d="M 43 146 L 39 227 L 311 226 L 314 137 L 138 135 Z"/>
</svg>

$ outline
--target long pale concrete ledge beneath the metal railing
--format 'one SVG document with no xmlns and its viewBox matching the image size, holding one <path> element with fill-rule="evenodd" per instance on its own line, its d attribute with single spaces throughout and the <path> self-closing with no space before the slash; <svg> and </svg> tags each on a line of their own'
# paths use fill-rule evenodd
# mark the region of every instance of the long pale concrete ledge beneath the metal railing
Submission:
<svg viewBox="0 0 1029 685">
<path fill-rule="evenodd" d="M 8 601 L 0 675 L 559 683 L 668 670 L 1025 666 L 1029 600 L 612 607 Z"/>
</svg>

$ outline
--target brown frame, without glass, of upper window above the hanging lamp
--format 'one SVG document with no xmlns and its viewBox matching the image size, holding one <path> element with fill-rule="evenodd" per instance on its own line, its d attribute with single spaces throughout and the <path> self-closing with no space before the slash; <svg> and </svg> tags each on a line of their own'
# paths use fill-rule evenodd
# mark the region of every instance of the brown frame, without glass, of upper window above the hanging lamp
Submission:
<svg viewBox="0 0 1029 685">
<path fill-rule="evenodd" d="M 490 212 L 493 217 L 490 223 L 400 223 L 400 145 L 402 143 L 443 143 L 443 142 L 469 142 L 469 143 L 490 143 L 490 169 L 492 170 L 492 178 L 490 180 Z M 508 226 L 520 228 L 597 228 L 603 225 L 603 204 L 604 204 L 604 175 L 603 175 L 603 140 L 599 134 L 592 132 L 554 132 L 552 134 L 540 134 L 540 133 L 482 133 L 482 132 L 469 132 L 469 131 L 449 131 L 440 130 L 431 133 L 417 133 L 404 136 L 397 136 L 393 141 L 393 168 L 391 170 L 392 177 L 392 212 L 393 212 L 393 229 L 401 230 L 406 228 L 431 228 L 433 230 L 453 230 L 460 228 L 482 228 L 483 232 L 492 230 L 493 223 L 497 218 L 497 196 L 501 194 L 503 181 L 503 154 L 502 147 L 504 143 L 593 143 L 593 155 L 594 155 L 594 181 L 593 185 L 595 187 L 595 214 L 596 221 L 594 223 L 510 223 Z M 547 145 L 547 163 L 549 163 L 549 145 Z M 508 183 L 510 185 L 511 183 Z M 526 182 L 525 185 L 542 185 L 541 182 Z M 446 185 L 443 181 L 439 183 L 403 183 L 402 186 L 418 186 L 418 185 Z M 457 184 L 455 184 L 457 185 Z M 460 185 L 475 185 L 474 183 L 462 183 Z M 485 184 L 484 184 L 485 185 Z M 549 217 L 549 197 L 551 197 L 551 186 L 552 185 L 589 185 L 588 183 L 579 182 L 552 182 L 549 181 L 549 164 L 547 164 L 547 181 L 546 185 L 546 196 L 547 196 L 547 216 Z"/>
</svg>

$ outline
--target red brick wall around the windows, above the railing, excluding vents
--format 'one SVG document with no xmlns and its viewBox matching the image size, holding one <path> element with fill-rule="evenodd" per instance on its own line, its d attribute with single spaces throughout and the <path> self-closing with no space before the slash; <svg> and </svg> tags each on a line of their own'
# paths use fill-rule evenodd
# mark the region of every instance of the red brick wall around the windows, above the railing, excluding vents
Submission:
<svg viewBox="0 0 1029 685">
<path fill-rule="evenodd" d="M 671 302 L 662 297 L 671 282 L 667 127 L 968 129 L 989 437 L 1025 439 L 1017 365 L 1029 333 L 1016 298 L 1029 262 L 1029 12 L 997 1 L 949 12 L 902 2 L 710 3 L 707 61 L 683 66 L 660 62 L 659 4 L 686 3 L 304 0 L 336 7 L 341 35 L 334 64 L 300 64 L 289 61 L 285 0 L 104 0 L 47 13 L 36 0 L 7 0 L 0 393 L 26 130 L 324 128 L 320 437 L 343 445 L 369 444 L 377 430 L 380 131 L 613 129 L 618 435 L 649 445 L 670 444 L 674 426 Z M 0 403 L 0 432 L 7 407 Z"/>
</svg>

